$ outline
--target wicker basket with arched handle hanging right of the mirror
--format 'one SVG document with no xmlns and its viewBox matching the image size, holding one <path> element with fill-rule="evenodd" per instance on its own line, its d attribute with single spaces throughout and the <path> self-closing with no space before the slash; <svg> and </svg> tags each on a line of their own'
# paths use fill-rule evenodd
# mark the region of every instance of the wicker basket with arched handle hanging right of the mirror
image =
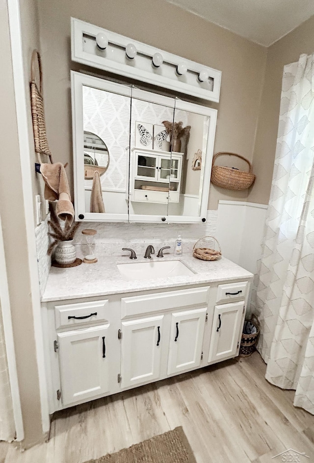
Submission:
<svg viewBox="0 0 314 463">
<path fill-rule="evenodd" d="M 230 154 L 243 159 L 249 165 L 249 172 L 239 171 L 233 167 L 214 166 L 216 158 L 222 154 Z M 212 158 L 210 181 L 214 185 L 221 188 L 229 188 L 230 190 L 245 190 L 253 184 L 254 180 L 255 175 L 252 174 L 252 164 L 243 156 L 235 153 L 220 152 Z"/>
</svg>

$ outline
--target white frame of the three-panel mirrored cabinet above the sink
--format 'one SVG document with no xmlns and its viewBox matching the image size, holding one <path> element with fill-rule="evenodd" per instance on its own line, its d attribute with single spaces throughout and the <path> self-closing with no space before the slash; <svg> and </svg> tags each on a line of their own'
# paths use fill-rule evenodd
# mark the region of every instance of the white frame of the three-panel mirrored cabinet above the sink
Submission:
<svg viewBox="0 0 314 463">
<path fill-rule="evenodd" d="M 84 196 L 84 166 L 80 162 L 80 156 L 83 151 L 83 99 L 82 87 L 88 86 L 106 91 L 112 91 L 121 95 L 131 96 L 146 101 L 152 101 L 157 104 L 176 108 L 176 110 L 188 111 L 199 115 L 209 117 L 209 131 L 207 150 L 203 159 L 205 159 L 203 176 L 201 178 L 200 189 L 202 191 L 200 215 L 198 216 L 179 216 L 179 215 L 139 215 L 139 214 L 112 214 L 112 213 L 95 213 L 85 212 Z M 213 154 L 213 144 L 215 138 L 217 110 L 205 106 L 189 103 L 180 99 L 169 98 L 157 93 L 148 92 L 131 88 L 131 86 L 117 84 L 98 77 L 89 76 L 79 72 L 71 71 L 71 94 L 72 94 L 72 128 L 73 128 L 73 155 L 74 155 L 74 196 L 75 196 L 75 220 L 88 222 L 154 222 L 154 223 L 198 223 L 204 221 L 207 216 L 207 205 L 209 197 L 210 174 Z M 175 105 L 174 105 L 175 103 Z M 127 163 L 130 167 L 130 160 Z M 129 172 L 126 173 L 129 182 Z M 203 181 L 203 183 L 202 183 Z M 129 185 L 126 185 L 127 194 Z M 83 218 L 81 217 L 83 215 Z M 165 220 L 163 220 L 165 219 Z"/>
</svg>

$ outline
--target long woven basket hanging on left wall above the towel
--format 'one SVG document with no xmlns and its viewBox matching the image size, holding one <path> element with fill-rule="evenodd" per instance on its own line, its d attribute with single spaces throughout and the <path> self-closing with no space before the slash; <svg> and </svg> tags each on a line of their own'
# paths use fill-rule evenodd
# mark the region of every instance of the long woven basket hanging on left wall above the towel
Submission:
<svg viewBox="0 0 314 463">
<path fill-rule="evenodd" d="M 39 71 L 39 85 L 37 85 L 36 82 L 36 67 Z M 37 154 L 39 164 L 41 164 L 41 154 L 49 156 L 50 162 L 52 163 L 52 154 L 48 146 L 44 115 L 41 58 L 37 50 L 33 51 L 31 57 L 30 78 L 31 116 L 33 120 L 35 152 Z"/>
</svg>

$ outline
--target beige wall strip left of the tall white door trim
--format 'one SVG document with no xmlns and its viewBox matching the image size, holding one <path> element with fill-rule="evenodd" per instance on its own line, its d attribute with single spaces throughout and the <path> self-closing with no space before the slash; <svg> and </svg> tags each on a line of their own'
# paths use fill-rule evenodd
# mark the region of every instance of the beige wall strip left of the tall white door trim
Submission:
<svg viewBox="0 0 314 463">
<path fill-rule="evenodd" d="M 21 8 L 22 12 L 25 9 L 25 18 L 30 19 L 26 39 L 36 31 L 36 22 L 33 21 L 35 2 L 21 1 Z M 42 439 L 43 435 L 6 0 L 0 0 L 0 43 L 0 136 L 3 160 L 0 169 L 0 215 L 26 437 L 22 446 L 27 447 Z M 31 205 L 29 214 L 32 215 Z"/>
</svg>

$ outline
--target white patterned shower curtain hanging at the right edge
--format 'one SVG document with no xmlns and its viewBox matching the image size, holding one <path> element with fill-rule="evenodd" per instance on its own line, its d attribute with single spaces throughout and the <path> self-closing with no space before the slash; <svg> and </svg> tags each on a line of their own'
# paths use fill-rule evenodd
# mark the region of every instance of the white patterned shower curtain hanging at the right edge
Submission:
<svg viewBox="0 0 314 463">
<path fill-rule="evenodd" d="M 314 55 L 284 68 L 256 308 L 266 379 L 314 414 Z"/>
</svg>

